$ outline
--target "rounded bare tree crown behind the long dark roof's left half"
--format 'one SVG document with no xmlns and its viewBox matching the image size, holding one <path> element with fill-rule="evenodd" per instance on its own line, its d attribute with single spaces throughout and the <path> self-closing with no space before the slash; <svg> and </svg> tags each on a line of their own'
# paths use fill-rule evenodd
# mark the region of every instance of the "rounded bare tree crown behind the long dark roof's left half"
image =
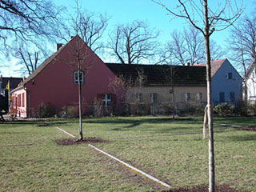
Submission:
<svg viewBox="0 0 256 192">
<path fill-rule="evenodd" d="M 110 34 L 110 49 L 121 63 L 138 64 L 143 59 L 154 57 L 158 34 L 146 22 L 118 25 Z"/>
</svg>

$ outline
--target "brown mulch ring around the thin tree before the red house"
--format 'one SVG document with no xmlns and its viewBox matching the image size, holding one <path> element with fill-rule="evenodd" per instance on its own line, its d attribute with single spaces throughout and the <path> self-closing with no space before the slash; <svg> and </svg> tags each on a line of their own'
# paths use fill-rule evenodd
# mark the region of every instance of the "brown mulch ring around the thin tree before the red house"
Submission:
<svg viewBox="0 0 256 192">
<path fill-rule="evenodd" d="M 59 146 L 71 146 L 71 145 L 79 145 L 82 143 L 95 143 L 95 142 L 110 142 L 108 140 L 105 140 L 103 138 L 64 138 L 64 139 L 58 139 L 55 141 Z"/>
</svg>

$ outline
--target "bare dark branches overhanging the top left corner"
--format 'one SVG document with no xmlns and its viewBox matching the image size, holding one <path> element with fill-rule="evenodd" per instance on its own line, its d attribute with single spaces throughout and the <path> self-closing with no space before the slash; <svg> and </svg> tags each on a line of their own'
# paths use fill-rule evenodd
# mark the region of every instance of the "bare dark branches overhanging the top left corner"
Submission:
<svg viewBox="0 0 256 192">
<path fill-rule="evenodd" d="M 1 51 L 8 54 L 11 49 L 6 48 L 15 47 L 20 42 L 38 44 L 40 38 L 53 37 L 62 8 L 44 0 L 1 0 L 0 10 Z"/>
</svg>

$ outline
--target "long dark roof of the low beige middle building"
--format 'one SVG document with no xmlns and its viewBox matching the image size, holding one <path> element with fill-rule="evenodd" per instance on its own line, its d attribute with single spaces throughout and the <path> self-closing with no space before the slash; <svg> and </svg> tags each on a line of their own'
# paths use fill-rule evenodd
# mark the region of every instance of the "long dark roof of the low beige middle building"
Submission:
<svg viewBox="0 0 256 192">
<path fill-rule="evenodd" d="M 135 65 L 106 63 L 118 77 L 135 82 L 139 74 L 145 76 L 144 85 L 205 85 L 206 67 Z"/>
</svg>

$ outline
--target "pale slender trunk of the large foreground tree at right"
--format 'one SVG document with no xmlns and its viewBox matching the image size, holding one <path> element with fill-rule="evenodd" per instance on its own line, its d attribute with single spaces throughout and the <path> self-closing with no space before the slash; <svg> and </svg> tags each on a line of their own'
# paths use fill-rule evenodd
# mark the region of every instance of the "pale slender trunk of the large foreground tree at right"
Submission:
<svg viewBox="0 0 256 192">
<path fill-rule="evenodd" d="M 209 192 L 215 191 L 215 167 L 214 167 L 214 123 L 213 106 L 211 98 L 211 70 L 210 70 L 210 24 L 208 18 L 207 0 L 203 1 L 205 18 L 205 43 L 206 43 L 206 78 L 207 78 L 207 110 L 208 110 L 208 129 L 209 129 Z"/>
</svg>

